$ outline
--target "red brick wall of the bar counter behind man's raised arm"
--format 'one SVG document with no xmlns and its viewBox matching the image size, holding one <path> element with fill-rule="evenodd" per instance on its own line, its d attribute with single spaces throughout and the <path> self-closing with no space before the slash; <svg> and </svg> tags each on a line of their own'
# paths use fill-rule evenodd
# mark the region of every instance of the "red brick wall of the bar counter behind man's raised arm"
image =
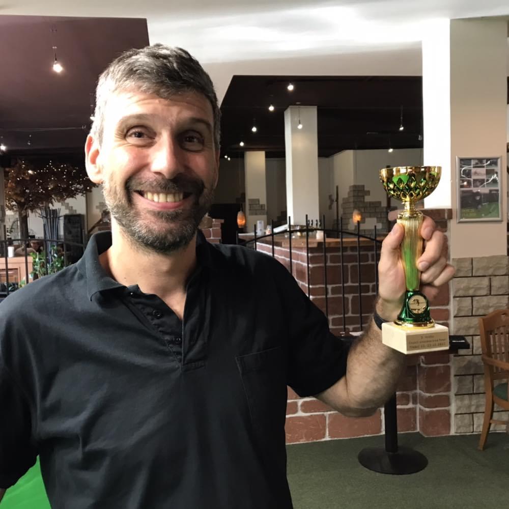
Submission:
<svg viewBox="0 0 509 509">
<path fill-rule="evenodd" d="M 450 210 L 427 210 L 442 232 L 448 236 Z M 297 241 L 295 241 L 295 244 Z M 270 245 L 258 243 L 261 251 L 272 253 Z M 447 252 L 447 246 L 445 246 Z M 276 247 L 275 258 L 290 268 L 289 251 Z M 377 249 L 377 259 L 379 250 Z M 337 335 L 343 332 L 341 254 L 337 246 L 327 248 L 327 288 L 324 284 L 323 244 L 309 251 L 310 298 L 325 312 L 325 292 L 329 297 L 329 325 Z M 307 293 L 307 257 L 305 247 L 292 249 L 292 273 Z M 375 299 L 375 249 L 373 243 L 360 247 L 363 323 L 367 323 Z M 357 247 L 344 249 L 345 312 L 347 332 L 359 330 Z M 449 286 L 444 286 L 434 301 L 431 313 L 443 325 L 449 325 Z M 397 411 L 399 432 L 420 431 L 425 436 L 451 433 L 451 356 L 430 353 L 408 356 L 408 366 L 398 385 Z M 371 417 L 345 417 L 314 398 L 299 398 L 289 388 L 286 432 L 287 442 L 309 442 L 334 438 L 378 435 L 384 432 L 383 408 Z"/>
</svg>

